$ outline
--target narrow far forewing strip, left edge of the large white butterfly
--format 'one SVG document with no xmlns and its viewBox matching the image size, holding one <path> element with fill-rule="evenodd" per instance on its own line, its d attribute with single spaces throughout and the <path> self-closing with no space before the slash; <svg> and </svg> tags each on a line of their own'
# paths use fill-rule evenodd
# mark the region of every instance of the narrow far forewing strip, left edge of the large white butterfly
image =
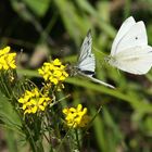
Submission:
<svg viewBox="0 0 152 152">
<path fill-rule="evenodd" d="M 116 53 L 117 45 L 119 43 L 119 40 L 129 31 L 129 29 L 135 25 L 136 22 L 132 16 L 128 17 L 121 26 L 114 41 L 112 45 L 111 55 L 114 55 Z"/>
</svg>

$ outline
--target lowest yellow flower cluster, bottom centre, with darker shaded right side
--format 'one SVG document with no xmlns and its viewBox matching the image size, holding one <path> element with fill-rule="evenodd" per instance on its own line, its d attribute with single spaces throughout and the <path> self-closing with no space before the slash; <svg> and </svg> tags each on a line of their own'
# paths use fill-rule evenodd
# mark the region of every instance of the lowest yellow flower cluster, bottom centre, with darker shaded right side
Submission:
<svg viewBox="0 0 152 152">
<path fill-rule="evenodd" d="M 72 128 L 86 127 L 90 122 L 90 117 L 87 115 L 87 107 L 83 109 L 81 104 L 78 104 L 77 109 L 63 109 L 63 113 L 66 115 L 66 125 Z"/>
</svg>

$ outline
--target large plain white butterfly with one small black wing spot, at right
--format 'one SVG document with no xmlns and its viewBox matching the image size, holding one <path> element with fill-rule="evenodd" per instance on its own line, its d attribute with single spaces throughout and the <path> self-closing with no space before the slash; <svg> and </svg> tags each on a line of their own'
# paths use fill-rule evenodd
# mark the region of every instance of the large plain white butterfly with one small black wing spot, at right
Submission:
<svg viewBox="0 0 152 152">
<path fill-rule="evenodd" d="M 109 63 L 124 72 L 142 75 L 152 66 L 152 47 L 148 46 L 145 26 L 142 21 L 128 17 L 121 26 L 109 59 Z"/>
</svg>

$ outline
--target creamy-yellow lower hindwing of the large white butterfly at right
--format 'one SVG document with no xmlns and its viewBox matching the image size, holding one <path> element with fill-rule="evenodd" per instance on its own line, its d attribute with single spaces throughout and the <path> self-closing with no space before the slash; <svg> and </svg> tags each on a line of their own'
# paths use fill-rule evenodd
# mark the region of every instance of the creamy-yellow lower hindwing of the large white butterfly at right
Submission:
<svg viewBox="0 0 152 152">
<path fill-rule="evenodd" d="M 131 74 L 147 74 L 152 66 L 152 47 L 135 47 L 117 53 L 110 64 Z"/>
</svg>

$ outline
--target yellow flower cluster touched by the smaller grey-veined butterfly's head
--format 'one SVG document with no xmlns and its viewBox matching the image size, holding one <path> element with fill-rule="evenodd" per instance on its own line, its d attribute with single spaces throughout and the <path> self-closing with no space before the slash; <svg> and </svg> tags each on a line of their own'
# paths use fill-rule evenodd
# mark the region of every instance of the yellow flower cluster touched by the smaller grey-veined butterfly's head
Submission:
<svg viewBox="0 0 152 152">
<path fill-rule="evenodd" d="M 62 65 L 59 59 L 55 59 L 51 63 L 43 63 L 43 66 L 39 68 L 38 72 L 46 81 L 53 85 L 62 84 L 62 81 L 68 76 L 65 72 L 65 66 Z"/>
</svg>

